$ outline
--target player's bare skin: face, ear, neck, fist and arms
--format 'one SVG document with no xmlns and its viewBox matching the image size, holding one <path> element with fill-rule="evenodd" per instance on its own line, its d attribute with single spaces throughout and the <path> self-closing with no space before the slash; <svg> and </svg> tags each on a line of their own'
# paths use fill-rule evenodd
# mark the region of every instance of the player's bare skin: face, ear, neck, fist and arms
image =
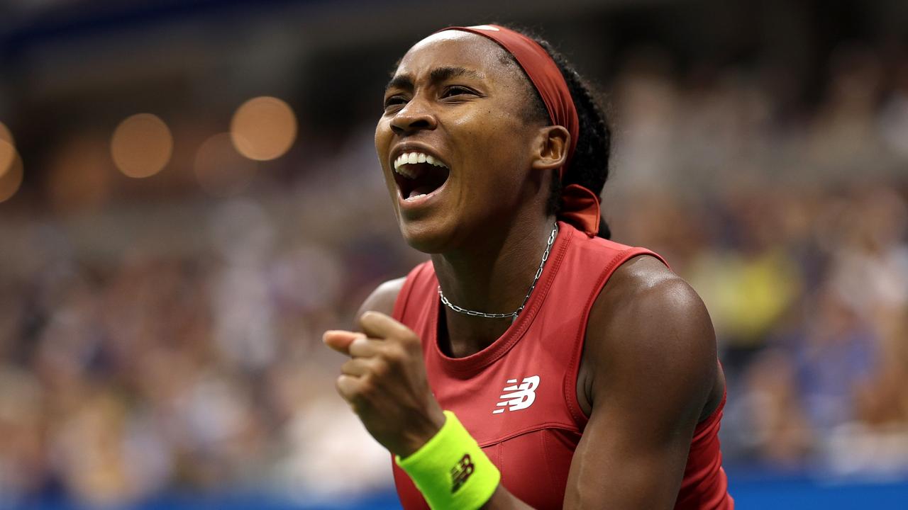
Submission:
<svg viewBox="0 0 908 510">
<path fill-rule="evenodd" d="M 528 85 L 502 52 L 459 32 L 414 45 L 385 94 L 375 135 L 404 239 L 432 254 L 451 301 L 486 311 L 517 309 L 529 288 L 554 222 L 546 212 L 548 172 L 563 164 L 569 145 L 564 128 L 518 114 Z M 418 207 L 399 196 L 392 173 L 394 158 L 411 148 L 450 169 L 443 189 Z M 350 357 L 337 379 L 341 396 L 381 445 L 408 456 L 438 432 L 444 415 L 419 338 L 390 318 L 402 283 L 386 282 L 366 299 L 359 331 L 327 331 L 324 341 Z M 445 314 L 440 347 L 455 357 L 489 346 L 509 325 Z M 696 292 L 651 257 L 618 268 L 590 313 L 577 378 L 590 419 L 564 507 L 672 508 L 696 424 L 718 406 L 724 385 Z M 528 505 L 499 485 L 483 507 Z"/>
</svg>

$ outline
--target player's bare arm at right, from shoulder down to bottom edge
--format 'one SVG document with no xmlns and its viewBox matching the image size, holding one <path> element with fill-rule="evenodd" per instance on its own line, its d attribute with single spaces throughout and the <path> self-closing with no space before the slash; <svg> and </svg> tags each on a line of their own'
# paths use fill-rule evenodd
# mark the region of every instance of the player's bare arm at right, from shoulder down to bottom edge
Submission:
<svg viewBox="0 0 908 510">
<path fill-rule="evenodd" d="M 612 278 L 588 321 L 593 409 L 565 507 L 672 508 L 716 380 L 716 336 L 696 292 L 655 259 Z"/>
</svg>

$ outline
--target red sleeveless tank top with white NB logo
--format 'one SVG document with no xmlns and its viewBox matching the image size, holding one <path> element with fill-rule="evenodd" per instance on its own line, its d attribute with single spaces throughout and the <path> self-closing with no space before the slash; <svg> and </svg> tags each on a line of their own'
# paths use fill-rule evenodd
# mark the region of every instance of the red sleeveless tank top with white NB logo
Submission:
<svg viewBox="0 0 908 510">
<path fill-rule="evenodd" d="M 649 250 L 590 239 L 561 221 L 558 227 L 526 308 L 489 347 L 465 358 L 441 352 L 439 283 L 430 261 L 410 271 L 393 312 L 422 338 L 429 386 L 441 407 L 457 414 L 508 491 L 539 510 L 563 505 L 571 458 L 587 425 L 577 403 L 577 370 L 589 310 L 623 262 L 641 254 L 662 260 Z M 696 427 L 676 509 L 733 507 L 717 436 L 724 405 L 725 397 Z M 410 477 L 393 468 L 403 507 L 428 510 Z"/>
</svg>

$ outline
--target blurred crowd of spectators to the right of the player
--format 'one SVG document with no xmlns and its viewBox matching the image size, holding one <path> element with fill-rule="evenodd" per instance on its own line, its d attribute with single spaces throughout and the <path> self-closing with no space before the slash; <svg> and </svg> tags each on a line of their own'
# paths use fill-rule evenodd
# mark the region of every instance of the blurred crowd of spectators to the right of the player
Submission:
<svg viewBox="0 0 908 510">
<path fill-rule="evenodd" d="M 606 203 L 706 301 L 725 458 L 908 476 L 908 57 L 843 44 L 815 104 L 772 69 L 667 68 L 618 78 Z"/>
</svg>

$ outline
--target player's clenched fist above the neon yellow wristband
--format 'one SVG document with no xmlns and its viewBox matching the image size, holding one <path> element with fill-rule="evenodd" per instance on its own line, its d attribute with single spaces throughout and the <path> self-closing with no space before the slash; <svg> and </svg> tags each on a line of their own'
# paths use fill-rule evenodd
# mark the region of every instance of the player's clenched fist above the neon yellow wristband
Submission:
<svg viewBox="0 0 908 510">
<path fill-rule="evenodd" d="M 377 311 L 360 316 L 363 333 L 326 331 L 328 347 L 350 357 L 337 378 L 338 393 L 366 430 L 395 455 L 406 457 L 445 422 L 429 389 L 419 337 Z"/>
</svg>

